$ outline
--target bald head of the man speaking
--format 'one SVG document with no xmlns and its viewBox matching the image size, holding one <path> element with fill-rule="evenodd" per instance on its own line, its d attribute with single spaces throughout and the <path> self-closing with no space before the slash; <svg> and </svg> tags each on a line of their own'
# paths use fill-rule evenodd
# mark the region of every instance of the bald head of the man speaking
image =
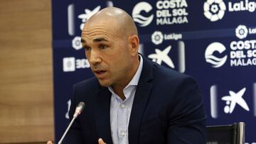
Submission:
<svg viewBox="0 0 256 144">
<path fill-rule="evenodd" d="M 139 38 L 131 16 L 108 7 L 93 15 L 82 29 L 82 46 L 102 86 L 125 87 L 139 66 Z"/>
</svg>

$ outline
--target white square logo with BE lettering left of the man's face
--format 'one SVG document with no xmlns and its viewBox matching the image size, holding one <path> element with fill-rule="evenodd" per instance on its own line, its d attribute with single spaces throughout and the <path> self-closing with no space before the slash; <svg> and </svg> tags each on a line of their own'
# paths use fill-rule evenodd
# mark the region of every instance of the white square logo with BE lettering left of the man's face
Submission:
<svg viewBox="0 0 256 144">
<path fill-rule="evenodd" d="M 90 63 L 87 59 L 75 59 L 75 57 L 63 58 L 63 72 L 75 72 L 75 70 L 89 67 Z"/>
</svg>

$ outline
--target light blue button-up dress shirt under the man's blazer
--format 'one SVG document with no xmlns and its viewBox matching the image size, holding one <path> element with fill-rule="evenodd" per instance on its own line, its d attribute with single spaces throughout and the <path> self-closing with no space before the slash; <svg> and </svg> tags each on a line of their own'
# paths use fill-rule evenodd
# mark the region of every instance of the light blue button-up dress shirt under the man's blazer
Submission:
<svg viewBox="0 0 256 144">
<path fill-rule="evenodd" d="M 134 74 L 132 80 L 124 87 L 123 92 L 124 101 L 114 93 L 112 87 L 108 87 L 112 93 L 110 101 L 110 127 L 111 136 L 114 144 L 128 144 L 128 126 L 129 118 L 132 111 L 132 104 L 134 101 L 134 95 L 139 82 L 139 77 L 142 73 L 143 60 L 139 55 L 139 68 Z"/>
</svg>

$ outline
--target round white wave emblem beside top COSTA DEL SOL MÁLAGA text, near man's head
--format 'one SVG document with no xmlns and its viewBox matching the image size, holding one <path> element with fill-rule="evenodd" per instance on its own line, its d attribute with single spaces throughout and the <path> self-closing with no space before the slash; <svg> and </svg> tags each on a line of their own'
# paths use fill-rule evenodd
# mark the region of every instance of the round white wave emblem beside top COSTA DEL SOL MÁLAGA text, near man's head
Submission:
<svg viewBox="0 0 256 144">
<path fill-rule="evenodd" d="M 136 6 L 134 6 L 134 9 L 132 10 L 132 18 L 134 18 L 135 22 L 139 23 L 139 26 L 141 27 L 148 26 L 153 20 L 154 15 L 151 14 L 151 16 L 146 18 L 140 15 L 140 13 L 141 11 L 146 11 L 146 13 L 148 13 L 149 11 L 151 11 L 151 9 L 152 9 L 152 6 L 149 3 L 142 1 L 138 3 Z"/>
</svg>

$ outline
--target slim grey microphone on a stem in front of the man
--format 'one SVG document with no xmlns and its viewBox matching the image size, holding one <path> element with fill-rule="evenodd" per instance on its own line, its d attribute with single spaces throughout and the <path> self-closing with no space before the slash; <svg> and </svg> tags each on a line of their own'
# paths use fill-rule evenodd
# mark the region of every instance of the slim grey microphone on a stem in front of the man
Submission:
<svg viewBox="0 0 256 144">
<path fill-rule="evenodd" d="M 63 134 L 63 136 L 60 138 L 60 141 L 58 142 L 58 144 L 61 144 L 63 142 L 63 139 L 65 138 L 65 135 L 68 133 L 68 130 L 70 129 L 70 127 L 72 126 L 73 122 L 75 121 L 75 118 L 78 118 L 79 114 L 82 113 L 82 110 L 85 108 L 85 103 L 84 102 L 80 102 L 78 104 L 78 106 L 75 108 L 75 113 L 73 115 L 72 121 L 70 122 L 70 124 L 68 125 L 68 128 L 65 130 L 65 133 Z"/>
</svg>

